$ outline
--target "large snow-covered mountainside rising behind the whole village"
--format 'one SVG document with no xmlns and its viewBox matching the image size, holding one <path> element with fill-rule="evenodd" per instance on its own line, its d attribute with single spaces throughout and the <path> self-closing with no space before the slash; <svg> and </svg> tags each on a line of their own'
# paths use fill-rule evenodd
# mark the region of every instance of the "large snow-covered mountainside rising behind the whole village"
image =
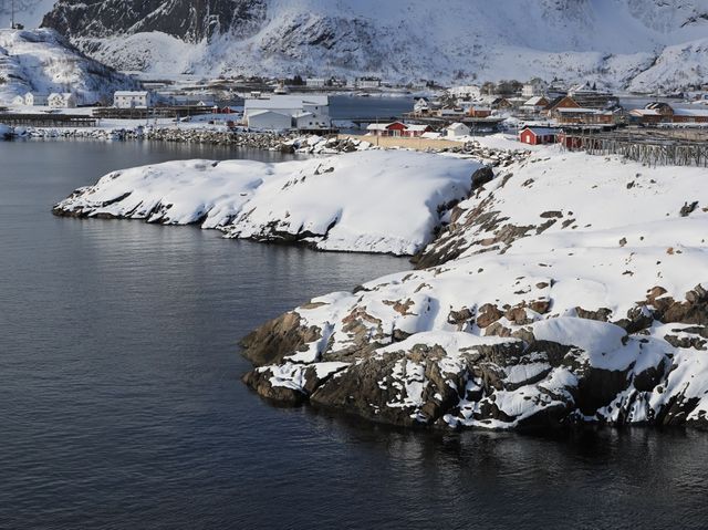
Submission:
<svg viewBox="0 0 708 530">
<path fill-rule="evenodd" d="M 654 61 L 708 38 L 708 0 L 60 0 L 44 24 L 123 70 L 675 87 L 701 72 Z"/>
</svg>

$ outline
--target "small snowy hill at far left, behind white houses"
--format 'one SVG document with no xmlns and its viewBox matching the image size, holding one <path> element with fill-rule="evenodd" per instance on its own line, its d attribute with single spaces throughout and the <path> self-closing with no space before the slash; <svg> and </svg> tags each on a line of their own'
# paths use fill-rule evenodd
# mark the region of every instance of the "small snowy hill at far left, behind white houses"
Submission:
<svg viewBox="0 0 708 530">
<path fill-rule="evenodd" d="M 112 98 L 135 82 L 88 59 L 53 30 L 0 30 L 0 104 L 28 92 L 73 92 L 79 102 Z"/>
</svg>

